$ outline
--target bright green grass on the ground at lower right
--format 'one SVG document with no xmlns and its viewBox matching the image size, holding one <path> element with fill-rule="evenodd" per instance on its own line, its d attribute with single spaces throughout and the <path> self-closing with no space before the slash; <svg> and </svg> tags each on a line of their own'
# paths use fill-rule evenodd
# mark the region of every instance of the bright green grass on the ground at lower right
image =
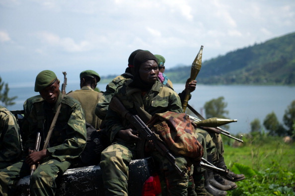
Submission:
<svg viewBox="0 0 295 196">
<path fill-rule="evenodd" d="M 246 135 L 241 146 L 222 136 L 228 168 L 244 174 L 227 196 L 295 196 L 295 143 L 263 134 Z"/>
</svg>

